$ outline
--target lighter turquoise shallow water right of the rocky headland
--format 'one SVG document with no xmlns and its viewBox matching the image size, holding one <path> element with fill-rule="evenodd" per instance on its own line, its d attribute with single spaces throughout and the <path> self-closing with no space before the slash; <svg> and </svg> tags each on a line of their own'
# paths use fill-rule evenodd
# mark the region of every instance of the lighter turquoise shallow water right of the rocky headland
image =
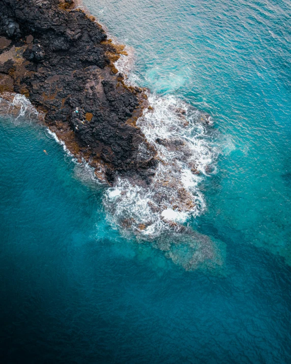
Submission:
<svg viewBox="0 0 291 364">
<path fill-rule="evenodd" d="M 290 260 L 287 2 L 85 1 L 135 50 L 136 77 L 209 112 L 222 134 L 201 223 Z M 133 77 L 132 77 L 133 78 Z M 224 138 L 224 139 L 223 139 Z"/>
</svg>

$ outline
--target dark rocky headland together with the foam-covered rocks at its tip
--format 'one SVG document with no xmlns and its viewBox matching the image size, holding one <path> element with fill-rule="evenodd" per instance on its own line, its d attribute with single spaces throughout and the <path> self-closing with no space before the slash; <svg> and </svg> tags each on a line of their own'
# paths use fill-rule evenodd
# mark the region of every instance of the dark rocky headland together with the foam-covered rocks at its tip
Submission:
<svg viewBox="0 0 291 364">
<path fill-rule="evenodd" d="M 144 239 L 188 232 L 184 222 L 206 209 L 198 184 L 215 173 L 211 116 L 129 86 L 115 67 L 124 46 L 73 0 L 0 4 L 0 97 L 28 99 L 56 139 L 111 186 L 103 204 L 114 226 Z"/>
</svg>

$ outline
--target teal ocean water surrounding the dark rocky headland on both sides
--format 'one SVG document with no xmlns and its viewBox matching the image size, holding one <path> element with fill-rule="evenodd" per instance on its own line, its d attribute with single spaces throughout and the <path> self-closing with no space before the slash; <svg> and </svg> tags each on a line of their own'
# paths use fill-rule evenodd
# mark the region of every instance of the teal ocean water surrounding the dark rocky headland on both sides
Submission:
<svg viewBox="0 0 291 364">
<path fill-rule="evenodd" d="M 2 116 L 0 358 L 290 362 L 290 4 L 84 4 L 127 45 L 129 81 L 151 89 L 162 117 L 145 128 L 175 122 L 179 103 L 211 115 L 191 135 L 211 159 L 193 192 L 203 208 L 187 237 L 136 239 L 119 213 L 131 199 L 142 214 L 144 195 L 114 200 L 124 186 L 94 181 L 33 113 Z"/>
</svg>

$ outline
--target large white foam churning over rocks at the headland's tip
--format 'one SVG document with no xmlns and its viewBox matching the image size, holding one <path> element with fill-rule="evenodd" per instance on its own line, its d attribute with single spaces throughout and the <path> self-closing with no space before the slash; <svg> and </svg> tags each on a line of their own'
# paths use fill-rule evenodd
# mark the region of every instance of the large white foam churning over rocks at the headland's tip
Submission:
<svg viewBox="0 0 291 364">
<path fill-rule="evenodd" d="M 120 71 L 127 61 L 116 65 Z M 128 78 L 127 82 L 132 83 Z M 212 118 L 177 97 L 148 94 L 150 107 L 136 125 L 157 151 L 157 167 L 148 186 L 130 178 L 119 178 L 105 194 L 108 219 L 124 232 L 140 238 L 156 238 L 167 231 L 178 232 L 191 216 L 206 209 L 199 185 L 217 172 L 220 153 L 209 132 Z M 139 146 L 140 161 L 151 157 L 145 145 Z"/>
</svg>

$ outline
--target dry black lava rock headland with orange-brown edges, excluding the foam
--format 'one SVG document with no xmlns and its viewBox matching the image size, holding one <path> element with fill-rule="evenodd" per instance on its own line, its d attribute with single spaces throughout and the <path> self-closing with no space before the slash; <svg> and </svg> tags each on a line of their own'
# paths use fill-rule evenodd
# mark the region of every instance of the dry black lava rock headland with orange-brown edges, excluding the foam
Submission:
<svg viewBox="0 0 291 364">
<path fill-rule="evenodd" d="M 114 66 L 124 46 L 107 39 L 73 0 L 0 4 L 0 97 L 25 95 L 100 180 L 112 184 L 125 176 L 149 184 L 156 150 L 136 126 L 147 95 L 127 86 Z M 147 159 L 140 158 L 140 146 Z"/>
</svg>

